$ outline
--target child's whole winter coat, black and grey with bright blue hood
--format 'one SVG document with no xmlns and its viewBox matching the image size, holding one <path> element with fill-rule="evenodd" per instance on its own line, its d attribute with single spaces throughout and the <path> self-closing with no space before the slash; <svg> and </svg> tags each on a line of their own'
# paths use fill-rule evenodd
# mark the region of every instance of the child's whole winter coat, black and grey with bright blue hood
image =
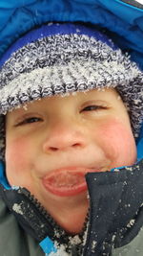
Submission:
<svg viewBox="0 0 143 256">
<path fill-rule="evenodd" d="M 129 51 L 142 68 L 143 6 L 130 2 L 72 0 L 67 5 L 67 0 L 2 1 L 0 56 L 12 41 L 35 25 L 47 21 L 82 21 L 106 28 L 116 44 Z M 45 253 L 64 256 L 62 247 L 56 252 L 56 241 L 63 246 L 68 244 L 71 251 L 68 255 L 73 256 L 143 255 L 143 129 L 136 144 L 138 162 L 133 167 L 86 176 L 90 210 L 78 241 L 62 234 L 62 230 L 60 233 L 60 228 L 27 190 L 11 190 L 1 165 L 0 256 Z"/>
</svg>

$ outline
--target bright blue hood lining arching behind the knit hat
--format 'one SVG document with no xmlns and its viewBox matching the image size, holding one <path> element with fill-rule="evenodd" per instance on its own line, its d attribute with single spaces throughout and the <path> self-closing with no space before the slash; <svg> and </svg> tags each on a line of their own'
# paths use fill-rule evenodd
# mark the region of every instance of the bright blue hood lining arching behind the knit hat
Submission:
<svg viewBox="0 0 143 256">
<path fill-rule="evenodd" d="M 1 0 L 0 60 L 10 44 L 36 25 L 51 21 L 81 21 L 108 29 L 115 43 L 129 51 L 143 69 L 143 5 L 128 0 Z M 143 158 L 143 128 L 137 140 Z"/>
</svg>

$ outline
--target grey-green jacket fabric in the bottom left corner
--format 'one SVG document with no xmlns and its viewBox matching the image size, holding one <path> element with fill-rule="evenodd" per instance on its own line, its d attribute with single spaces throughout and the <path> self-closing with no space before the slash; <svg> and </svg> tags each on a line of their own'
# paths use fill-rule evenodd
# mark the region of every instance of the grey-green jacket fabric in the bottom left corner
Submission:
<svg viewBox="0 0 143 256">
<path fill-rule="evenodd" d="M 0 195 L 0 255 L 44 256 L 31 236 L 19 226 Z"/>
</svg>

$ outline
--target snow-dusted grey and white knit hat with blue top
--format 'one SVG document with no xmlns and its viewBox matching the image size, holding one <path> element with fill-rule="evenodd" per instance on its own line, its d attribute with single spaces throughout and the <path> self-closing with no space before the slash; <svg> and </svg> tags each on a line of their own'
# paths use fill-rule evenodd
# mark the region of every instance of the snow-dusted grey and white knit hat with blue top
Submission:
<svg viewBox="0 0 143 256">
<path fill-rule="evenodd" d="M 115 87 L 134 137 L 143 121 L 143 72 L 106 35 L 79 24 L 48 24 L 18 39 L 0 59 L 0 157 L 5 114 L 52 95 Z"/>
</svg>

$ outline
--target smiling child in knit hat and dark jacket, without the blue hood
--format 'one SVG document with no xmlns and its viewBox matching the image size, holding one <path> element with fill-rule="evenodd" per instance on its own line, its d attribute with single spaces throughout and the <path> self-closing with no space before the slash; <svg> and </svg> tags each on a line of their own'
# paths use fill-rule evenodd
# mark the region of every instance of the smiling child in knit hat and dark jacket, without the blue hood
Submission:
<svg viewBox="0 0 143 256">
<path fill-rule="evenodd" d="M 143 73 L 72 23 L 32 30 L 1 63 L 3 255 L 142 255 Z"/>
</svg>

